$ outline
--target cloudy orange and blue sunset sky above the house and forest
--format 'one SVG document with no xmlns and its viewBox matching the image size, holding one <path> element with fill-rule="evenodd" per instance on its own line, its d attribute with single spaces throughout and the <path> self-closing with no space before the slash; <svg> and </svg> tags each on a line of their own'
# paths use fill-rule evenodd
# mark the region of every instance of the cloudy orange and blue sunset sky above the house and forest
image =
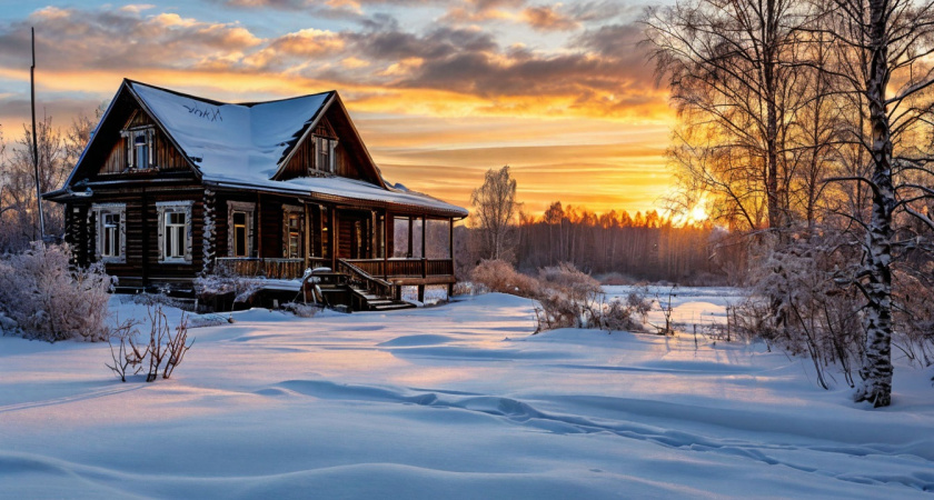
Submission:
<svg viewBox="0 0 934 500">
<path fill-rule="evenodd" d="M 469 206 L 509 164 L 519 201 L 659 207 L 673 113 L 630 1 L 0 0 L 0 124 L 68 126 L 121 79 L 256 101 L 336 89 L 391 182 Z"/>
</svg>

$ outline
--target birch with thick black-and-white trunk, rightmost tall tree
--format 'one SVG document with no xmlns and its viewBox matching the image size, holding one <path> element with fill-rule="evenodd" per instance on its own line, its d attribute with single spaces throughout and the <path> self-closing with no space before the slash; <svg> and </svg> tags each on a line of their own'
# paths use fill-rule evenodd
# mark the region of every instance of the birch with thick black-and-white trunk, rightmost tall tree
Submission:
<svg viewBox="0 0 934 500">
<path fill-rule="evenodd" d="M 837 44 L 841 67 L 834 76 L 842 88 L 864 100 L 868 130 L 852 134 L 870 154 L 870 176 L 838 180 L 870 190 L 870 220 L 852 217 L 864 230 L 863 263 L 853 283 L 866 300 L 862 384 L 856 401 L 885 407 L 892 400 L 893 261 L 900 250 L 920 239 L 904 236 L 898 221 L 913 218 L 934 231 L 928 207 L 934 198 L 930 167 L 930 126 L 934 99 L 934 2 L 912 0 L 834 0 L 838 24 L 827 31 Z M 890 91 L 894 91 L 890 93 Z M 927 138 L 922 142 L 920 138 Z M 897 151 L 896 151 L 897 149 Z"/>
</svg>

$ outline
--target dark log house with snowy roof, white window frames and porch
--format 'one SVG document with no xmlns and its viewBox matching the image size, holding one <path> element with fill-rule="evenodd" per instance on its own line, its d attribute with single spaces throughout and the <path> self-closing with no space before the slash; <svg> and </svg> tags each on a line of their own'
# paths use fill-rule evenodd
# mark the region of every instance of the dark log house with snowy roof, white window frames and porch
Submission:
<svg viewBox="0 0 934 500">
<path fill-rule="evenodd" d="M 132 80 L 44 198 L 64 206 L 76 263 L 102 261 L 121 287 L 327 267 L 357 309 L 401 286 L 450 287 L 453 226 L 467 216 L 387 183 L 335 91 L 231 104 Z M 426 254 L 429 223 L 447 224 L 440 254 Z"/>
</svg>

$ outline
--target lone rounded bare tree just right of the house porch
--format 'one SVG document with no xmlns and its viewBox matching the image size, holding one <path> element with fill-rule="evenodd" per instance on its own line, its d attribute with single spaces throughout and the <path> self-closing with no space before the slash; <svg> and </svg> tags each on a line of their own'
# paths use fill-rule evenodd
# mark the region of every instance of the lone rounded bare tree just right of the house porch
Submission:
<svg viewBox="0 0 934 500">
<path fill-rule="evenodd" d="M 489 169 L 484 184 L 470 194 L 478 228 L 484 243 L 484 258 L 511 260 L 514 258 L 514 220 L 517 212 L 516 180 L 509 166 Z"/>
</svg>

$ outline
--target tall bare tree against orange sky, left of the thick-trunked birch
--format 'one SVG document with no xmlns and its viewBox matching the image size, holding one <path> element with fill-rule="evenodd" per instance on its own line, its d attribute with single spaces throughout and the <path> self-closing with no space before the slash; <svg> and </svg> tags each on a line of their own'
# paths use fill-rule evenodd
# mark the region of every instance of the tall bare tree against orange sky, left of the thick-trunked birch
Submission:
<svg viewBox="0 0 934 500">
<path fill-rule="evenodd" d="M 752 229 L 765 204 L 767 226 L 787 222 L 785 134 L 802 96 L 791 51 L 799 13 L 789 0 L 687 0 L 653 8 L 645 19 L 656 74 L 688 124 L 685 148 L 690 188 L 731 206 Z M 686 161 L 686 156 L 696 160 Z"/>
</svg>

